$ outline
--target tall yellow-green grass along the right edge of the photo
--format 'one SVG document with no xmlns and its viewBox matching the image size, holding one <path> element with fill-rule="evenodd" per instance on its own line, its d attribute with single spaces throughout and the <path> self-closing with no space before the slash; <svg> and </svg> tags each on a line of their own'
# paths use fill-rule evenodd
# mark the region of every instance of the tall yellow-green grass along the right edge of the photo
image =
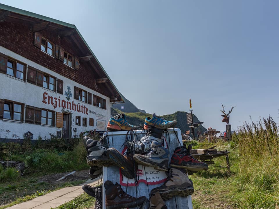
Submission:
<svg viewBox="0 0 279 209">
<path fill-rule="evenodd" d="M 239 206 L 249 209 L 275 208 L 279 202 L 279 133 L 269 117 L 244 123 L 233 140 L 239 145 Z"/>
</svg>

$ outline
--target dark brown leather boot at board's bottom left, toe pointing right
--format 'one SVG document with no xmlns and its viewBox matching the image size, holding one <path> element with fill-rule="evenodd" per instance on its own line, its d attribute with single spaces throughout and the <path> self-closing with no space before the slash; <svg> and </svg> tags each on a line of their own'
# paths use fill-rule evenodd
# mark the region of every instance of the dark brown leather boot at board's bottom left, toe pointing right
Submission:
<svg viewBox="0 0 279 209">
<path fill-rule="evenodd" d="M 118 183 L 106 181 L 104 187 L 105 207 L 107 209 L 134 208 L 147 200 L 144 196 L 136 198 L 126 194 Z"/>
</svg>

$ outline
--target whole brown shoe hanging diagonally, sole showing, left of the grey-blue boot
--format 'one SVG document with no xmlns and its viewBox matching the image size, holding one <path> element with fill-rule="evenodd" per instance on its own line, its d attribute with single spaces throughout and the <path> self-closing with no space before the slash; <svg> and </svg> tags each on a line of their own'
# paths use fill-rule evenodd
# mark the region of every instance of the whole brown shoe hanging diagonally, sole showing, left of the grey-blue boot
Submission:
<svg viewBox="0 0 279 209">
<path fill-rule="evenodd" d="M 134 170 L 134 160 L 133 155 L 129 154 L 125 156 L 118 152 L 115 148 L 109 148 L 107 150 L 108 158 L 113 161 L 113 165 L 120 167 L 121 173 L 126 176 L 128 179 L 133 179 L 135 177 L 135 170 L 137 170 L 137 164 L 135 163 L 135 170 Z"/>
</svg>

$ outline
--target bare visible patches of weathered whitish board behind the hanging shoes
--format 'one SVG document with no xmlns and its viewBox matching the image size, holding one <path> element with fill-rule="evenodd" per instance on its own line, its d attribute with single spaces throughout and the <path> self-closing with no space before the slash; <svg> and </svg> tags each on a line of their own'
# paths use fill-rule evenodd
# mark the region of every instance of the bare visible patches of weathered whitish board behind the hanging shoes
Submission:
<svg viewBox="0 0 279 209">
<path fill-rule="evenodd" d="M 167 147 L 169 145 L 169 160 L 171 159 L 171 156 L 174 152 L 174 149 L 176 147 L 179 147 L 180 144 L 182 145 L 182 137 L 181 137 L 181 131 L 178 128 L 174 129 L 167 129 L 168 133 L 164 132 L 164 146 Z M 175 131 L 175 132 L 174 132 Z M 109 147 L 116 148 L 119 152 L 123 151 L 127 131 L 108 131 L 104 134 L 108 135 L 109 138 Z M 137 138 L 142 138 L 145 133 L 142 130 L 135 131 L 135 134 L 137 135 Z M 128 135 L 129 137 L 129 135 Z M 135 135 L 134 135 L 135 137 Z M 178 137 L 178 139 L 177 139 Z M 179 142 L 180 144 L 179 144 Z M 122 147 L 123 145 L 123 147 Z M 139 184 L 137 185 L 137 196 L 145 196 L 148 199 L 150 199 L 149 193 L 153 188 L 156 188 L 158 186 L 161 186 L 164 181 L 166 180 L 167 176 L 165 172 L 163 171 L 157 171 L 153 167 L 144 167 L 139 165 Z M 147 173 L 147 174 L 146 174 Z M 136 197 L 136 187 L 133 184 L 133 179 L 127 179 L 125 176 L 120 175 L 119 167 L 111 166 L 111 167 L 103 167 L 103 182 L 110 180 L 113 183 L 120 183 L 121 188 L 126 192 L 127 194 L 132 195 L 133 197 Z M 146 180 L 148 182 L 148 186 L 146 184 Z M 127 186 L 128 181 L 128 186 Z M 191 196 L 187 197 L 181 197 L 181 196 L 175 196 L 170 200 L 165 201 L 168 208 L 171 209 L 193 209 L 192 206 L 192 198 Z M 146 208 L 149 206 L 149 203 L 146 204 Z M 105 188 L 103 186 L 103 208 L 105 208 Z M 139 207 L 140 208 L 140 207 Z"/>
</svg>

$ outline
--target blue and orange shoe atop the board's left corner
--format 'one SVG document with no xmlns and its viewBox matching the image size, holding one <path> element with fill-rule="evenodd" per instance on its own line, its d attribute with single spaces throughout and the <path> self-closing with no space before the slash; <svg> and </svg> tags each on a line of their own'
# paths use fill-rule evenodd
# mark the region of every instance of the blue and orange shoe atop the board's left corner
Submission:
<svg viewBox="0 0 279 209">
<path fill-rule="evenodd" d="M 107 125 L 109 131 L 129 131 L 131 129 L 136 130 L 137 128 L 137 126 L 130 125 L 127 122 L 124 113 L 110 118 Z"/>
</svg>

